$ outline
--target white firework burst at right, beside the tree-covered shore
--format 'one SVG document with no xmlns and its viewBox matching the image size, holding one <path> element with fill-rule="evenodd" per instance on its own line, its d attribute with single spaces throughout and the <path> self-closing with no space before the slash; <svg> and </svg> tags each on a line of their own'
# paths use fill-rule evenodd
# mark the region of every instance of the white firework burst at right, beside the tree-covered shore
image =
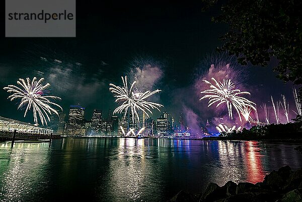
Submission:
<svg viewBox="0 0 302 202">
<path fill-rule="evenodd" d="M 251 95 L 249 92 L 235 89 L 235 84 L 230 79 L 223 79 L 222 82 L 219 83 L 214 78 L 211 78 L 211 80 L 214 82 L 214 84 L 207 80 L 203 80 L 206 84 L 210 85 L 210 89 L 201 91 L 201 94 L 206 95 L 199 99 L 202 100 L 204 98 L 208 98 L 208 107 L 213 104 L 217 104 L 216 107 L 219 107 L 225 103 L 228 108 L 229 117 L 233 119 L 232 108 L 234 107 L 241 121 L 242 119 L 240 114 L 242 112 L 244 113 L 245 107 L 256 111 L 256 108 L 254 107 L 256 104 L 242 97 L 242 95 Z"/>
</svg>

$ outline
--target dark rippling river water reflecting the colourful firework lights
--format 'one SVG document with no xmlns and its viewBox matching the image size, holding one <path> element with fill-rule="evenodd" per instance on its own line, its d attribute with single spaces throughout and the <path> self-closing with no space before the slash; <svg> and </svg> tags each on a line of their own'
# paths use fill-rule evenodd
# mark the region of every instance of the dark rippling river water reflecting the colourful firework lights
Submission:
<svg viewBox="0 0 302 202">
<path fill-rule="evenodd" d="M 179 190 L 197 193 L 262 181 L 289 165 L 302 167 L 297 143 L 171 139 L 60 139 L 0 143 L 0 201 L 166 201 Z"/>
</svg>

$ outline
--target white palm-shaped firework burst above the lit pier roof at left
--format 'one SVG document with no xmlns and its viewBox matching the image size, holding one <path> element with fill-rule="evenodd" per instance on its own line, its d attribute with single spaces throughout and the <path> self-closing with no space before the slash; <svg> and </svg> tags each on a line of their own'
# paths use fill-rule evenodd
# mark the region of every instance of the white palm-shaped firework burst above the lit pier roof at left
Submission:
<svg viewBox="0 0 302 202">
<path fill-rule="evenodd" d="M 47 120 L 50 121 L 49 115 L 51 112 L 59 115 L 57 110 L 52 108 L 50 105 L 54 105 L 61 110 L 63 110 L 58 104 L 51 102 L 50 99 L 58 99 L 61 98 L 56 96 L 45 95 L 48 93 L 46 89 L 49 88 L 50 84 L 47 83 L 43 85 L 44 78 L 37 80 L 36 77 L 31 81 L 29 78 L 19 79 L 17 84 L 21 87 L 9 85 L 8 87 L 3 88 L 8 93 L 13 93 L 8 97 L 11 101 L 15 99 L 21 99 L 18 109 L 25 109 L 24 117 L 27 115 L 28 111 L 33 109 L 34 121 L 38 123 L 38 116 L 42 125 L 44 123 L 47 125 Z"/>
</svg>

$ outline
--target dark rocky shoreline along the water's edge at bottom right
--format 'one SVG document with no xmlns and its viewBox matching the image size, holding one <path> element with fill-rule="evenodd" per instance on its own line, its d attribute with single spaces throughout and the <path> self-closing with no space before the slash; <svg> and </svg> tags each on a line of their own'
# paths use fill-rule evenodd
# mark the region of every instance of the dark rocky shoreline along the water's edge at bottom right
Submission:
<svg viewBox="0 0 302 202">
<path fill-rule="evenodd" d="M 301 159 L 302 160 L 302 159 Z M 281 167 L 265 176 L 263 182 L 226 182 L 223 186 L 210 182 L 206 189 L 197 194 L 184 190 L 168 202 L 292 202 L 302 201 L 302 169 L 292 171 L 289 166 Z"/>
</svg>

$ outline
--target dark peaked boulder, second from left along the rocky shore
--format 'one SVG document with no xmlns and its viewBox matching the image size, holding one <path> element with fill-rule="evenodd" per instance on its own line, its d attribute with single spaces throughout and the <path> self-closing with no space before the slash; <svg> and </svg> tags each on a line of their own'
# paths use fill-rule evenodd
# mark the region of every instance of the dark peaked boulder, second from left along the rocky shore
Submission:
<svg viewBox="0 0 302 202">
<path fill-rule="evenodd" d="M 218 186 L 216 183 L 210 182 L 203 191 L 199 201 L 214 201 L 227 197 L 225 189 Z"/>
</svg>

